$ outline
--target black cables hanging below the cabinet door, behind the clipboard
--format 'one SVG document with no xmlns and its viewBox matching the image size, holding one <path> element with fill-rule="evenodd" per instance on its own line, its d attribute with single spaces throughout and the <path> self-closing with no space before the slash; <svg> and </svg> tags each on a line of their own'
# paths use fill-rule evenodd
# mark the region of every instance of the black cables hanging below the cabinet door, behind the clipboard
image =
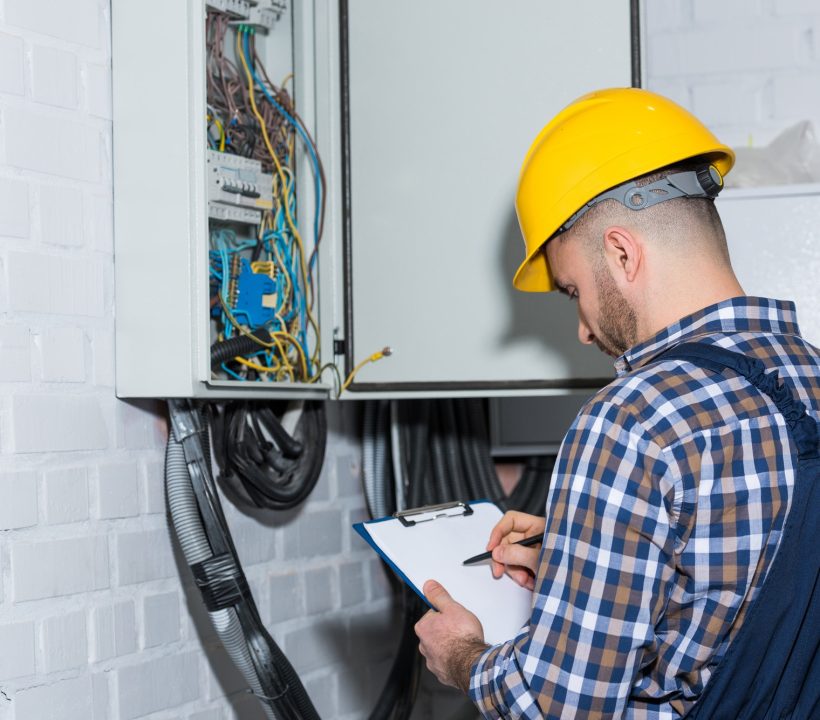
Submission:
<svg viewBox="0 0 820 720">
<path fill-rule="evenodd" d="M 363 428 L 371 517 L 478 499 L 492 500 L 503 510 L 544 512 L 555 459 L 527 458 L 518 484 L 505 497 L 490 457 L 483 400 L 372 401 L 365 405 Z M 406 720 L 419 688 L 422 658 L 413 628 L 427 606 L 404 583 L 398 593 L 403 635 L 370 720 Z"/>
</svg>

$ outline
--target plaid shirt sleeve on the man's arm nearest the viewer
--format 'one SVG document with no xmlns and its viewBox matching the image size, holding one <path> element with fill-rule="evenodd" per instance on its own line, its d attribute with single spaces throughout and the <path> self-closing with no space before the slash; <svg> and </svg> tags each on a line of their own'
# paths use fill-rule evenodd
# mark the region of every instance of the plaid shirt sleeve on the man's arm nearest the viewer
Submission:
<svg viewBox="0 0 820 720">
<path fill-rule="evenodd" d="M 484 717 L 620 717 L 674 574 L 670 475 L 627 408 L 593 399 L 579 414 L 553 473 L 530 623 L 472 668 Z"/>
</svg>

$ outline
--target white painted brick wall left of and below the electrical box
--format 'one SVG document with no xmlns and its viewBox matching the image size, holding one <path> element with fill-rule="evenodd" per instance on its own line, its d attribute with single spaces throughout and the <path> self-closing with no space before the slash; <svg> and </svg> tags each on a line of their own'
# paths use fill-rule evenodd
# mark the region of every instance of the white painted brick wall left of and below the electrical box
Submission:
<svg viewBox="0 0 820 720">
<path fill-rule="evenodd" d="M 108 0 L 0 0 L 0 720 L 250 720 L 170 542 L 164 407 L 114 395 L 109 28 Z M 395 617 L 350 530 L 356 408 L 329 425 L 305 506 L 227 514 L 321 716 L 353 720 Z"/>
</svg>

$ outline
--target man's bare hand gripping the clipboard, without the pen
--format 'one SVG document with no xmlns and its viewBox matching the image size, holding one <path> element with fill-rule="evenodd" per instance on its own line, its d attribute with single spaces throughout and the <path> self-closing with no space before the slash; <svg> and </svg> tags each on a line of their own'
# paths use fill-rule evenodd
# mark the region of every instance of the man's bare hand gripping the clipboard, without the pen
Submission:
<svg viewBox="0 0 820 720">
<path fill-rule="evenodd" d="M 470 687 L 470 668 L 487 649 L 478 618 L 459 605 L 435 580 L 424 583 L 424 595 L 438 610 L 416 623 L 419 652 L 439 682 L 463 692 Z"/>
</svg>

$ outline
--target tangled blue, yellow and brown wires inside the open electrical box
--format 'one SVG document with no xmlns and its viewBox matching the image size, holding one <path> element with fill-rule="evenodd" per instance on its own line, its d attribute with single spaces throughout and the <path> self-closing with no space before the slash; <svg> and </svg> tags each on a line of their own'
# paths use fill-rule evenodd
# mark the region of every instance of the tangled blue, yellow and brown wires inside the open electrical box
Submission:
<svg viewBox="0 0 820 720">
<path fill-rule="evenodd" d="M 255 37 L 254 28 L 209 11 L 208 144 L 218 152 L 258 160 L 265 172 L 273 173 L 273 210 L 263 213 L 258 227 L 211 222 L 212 351 L 237 336 L 256 338 L 250 349 L 222 360 L 214 371 L 217 377 L 240 381 L 314 382 L 321 373 L 314 271 L 324 225 L 324 169 L 287 92 L 290 76 L 279 87 L 271 82 Z M 296 222 L 297 145 L 307 153 L 316 195 L 309 257 Z M 243 263 L 270 280 L 265 295 L 273 297 L 272 312 L 262 328 L 237 306 Z M 260 329 L 269 332 L 267 341 L 259 338 Z"/>
</svg>

